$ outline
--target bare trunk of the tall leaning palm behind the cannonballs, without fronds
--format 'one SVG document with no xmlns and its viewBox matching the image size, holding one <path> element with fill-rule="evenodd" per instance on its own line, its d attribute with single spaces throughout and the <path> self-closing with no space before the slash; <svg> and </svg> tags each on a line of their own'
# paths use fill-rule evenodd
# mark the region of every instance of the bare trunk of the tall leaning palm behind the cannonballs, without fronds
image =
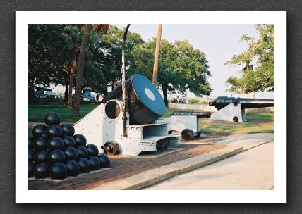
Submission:
<svg viewBox="0 0 302 214">
<path fill-rule="evenodd" d="M 81 95 L 80 92 L 82 89 L 86 49 L 87 49 L 87 44 L 88 44 L 88 40 L 89 40 L 89 36 L 90 36 L 91 27 L 92 27 L 92 25 L 90 25 L 90 24 L 85 25 L 82 44 L 80 46 L 80 55 L 78 58 L 78 69 L 77 69 L 76 82 L 75 82 L 75 95 L 74 95 L 74 99 L 73 99 L 73 117 L 79 116 L 80 95 Z"/>
</svg>

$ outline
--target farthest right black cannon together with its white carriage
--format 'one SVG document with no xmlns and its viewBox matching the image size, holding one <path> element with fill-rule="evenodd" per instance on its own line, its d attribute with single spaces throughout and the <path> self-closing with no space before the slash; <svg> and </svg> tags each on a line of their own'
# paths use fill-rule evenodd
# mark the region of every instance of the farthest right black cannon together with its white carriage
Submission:
<svg viewBox="0 0 302 214">
<path fill-rule="evenodd" d="M 273 107 L 274 99 L 252 99 L 228 96 L 218 96 L 215 101 L 209 103 L 217 108 L 216 113 L 212 113 L 212 120 L 227 120 L 234 122 L 246 122 L 246 108 Z"/>
</svg>

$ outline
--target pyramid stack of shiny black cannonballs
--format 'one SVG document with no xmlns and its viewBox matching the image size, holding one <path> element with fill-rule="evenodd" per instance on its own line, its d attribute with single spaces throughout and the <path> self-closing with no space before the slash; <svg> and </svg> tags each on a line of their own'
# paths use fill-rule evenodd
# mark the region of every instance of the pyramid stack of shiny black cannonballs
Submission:
<svg viewBox="0 0 302 214">
<path fill-rule="evenodd" d="M 109 166 L 109 158 L 83 134 L 74 134 L 73 125 L 60 125 L 59 114 L 47 114 L 44 122 L 28 137 L 28 177 L 64 179 Z"/>
</svg>

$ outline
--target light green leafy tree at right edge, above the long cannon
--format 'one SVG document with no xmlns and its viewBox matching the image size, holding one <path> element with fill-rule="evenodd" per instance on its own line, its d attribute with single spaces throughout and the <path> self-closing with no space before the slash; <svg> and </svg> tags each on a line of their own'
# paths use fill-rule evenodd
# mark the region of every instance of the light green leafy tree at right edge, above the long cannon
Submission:
<svg viewBox="0 0 302 214">
<path fill-rule="evenodd" d="M 246 64 L 240 71 L 241 77 L 229 77 L 229 92 L 274 92 L 274 25 L 256 25 L 260 38 L 255 39 L 243 35 L 241 41 L 248 44 L 248 49 L 234 55 L 226 65 L 237 66 Z M 256 60 L 256 66 L 250 62 Z"/>
</svg>

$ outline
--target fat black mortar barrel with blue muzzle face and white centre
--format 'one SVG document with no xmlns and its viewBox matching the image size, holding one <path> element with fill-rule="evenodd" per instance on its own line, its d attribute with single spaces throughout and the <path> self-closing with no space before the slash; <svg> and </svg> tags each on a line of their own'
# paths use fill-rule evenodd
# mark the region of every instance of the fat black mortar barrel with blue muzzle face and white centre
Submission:
<svg viewBox="0 0 302 214">
<path fill-rule="evenodd" d="M 139 125 L 152 123 L 166 112 L 162 95 L 154 84 L 143 75 L 134 74 L 126 84 L 126 111 L 129 113 L 129 124 Z M 121 100 L 121 85 L 107 94 L 102 103 L 112 99 Z"/>
</svg>

